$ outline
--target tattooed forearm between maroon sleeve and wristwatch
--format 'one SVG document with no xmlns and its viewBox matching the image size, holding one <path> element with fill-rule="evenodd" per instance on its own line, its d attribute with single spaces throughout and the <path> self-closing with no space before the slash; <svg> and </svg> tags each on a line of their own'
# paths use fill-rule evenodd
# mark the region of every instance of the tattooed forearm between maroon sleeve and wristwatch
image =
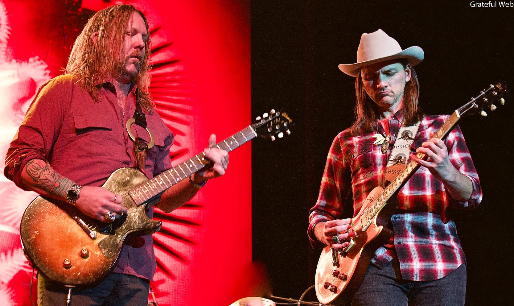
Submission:
<svg viewBox="0 0 514 306">
<path fill-rule="evenodd" d="M 34 159 L 28 161 L 26 171 L 35 187 L 51 195 L 66 197 L 66 192 L 73 184 L 69 178 L 53 170 L 48 163 L 42 167 Z"/>
</svg>

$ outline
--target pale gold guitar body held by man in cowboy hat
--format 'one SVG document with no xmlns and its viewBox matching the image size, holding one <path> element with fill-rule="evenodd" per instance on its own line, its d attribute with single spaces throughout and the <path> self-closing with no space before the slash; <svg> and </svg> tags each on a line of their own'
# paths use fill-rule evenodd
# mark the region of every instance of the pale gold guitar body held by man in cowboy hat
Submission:
<svg viewBox="0 0 514 306">
<path fill-rule="evenodd" d="M 354 225 L 361 223 L 361 214 L 382 191 L 381 187 L 376 187 L 370 192 L 361 210 L 352 219 Z M 316 296 L 322 304 L 344 306 L 350 302 L 364 279 L 376 249 L 393 235 L 388 224 L 395 211 L 395 205 L 384 205 L 365 231 L 354 226 L 357 236 L 352 238 L 353 245 L 346 248 L 347 252 L 338 252 L 329 246 L 323 249 L 315 278 Z"/>
</svg>

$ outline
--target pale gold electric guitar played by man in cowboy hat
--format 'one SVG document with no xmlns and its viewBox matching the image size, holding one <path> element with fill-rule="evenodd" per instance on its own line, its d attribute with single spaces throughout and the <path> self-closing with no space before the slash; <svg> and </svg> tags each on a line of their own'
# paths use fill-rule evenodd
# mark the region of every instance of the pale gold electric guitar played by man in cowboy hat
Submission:
<svg viewBox="0 0 514 306">
<path fill-rule="evenodd" d="M 457 121 L 463 116 L 473 113 L 481 113 L 489 107 L 491 111 L 496 109 L 492 103 L 500 101 L 503 105 L 503 94 L 507 91 L 504 82 L 489 85 L 480 95 L 453 112 L 443 126 L 433 137 L 443 139 Z M 417 157 L 424 158 L 424 154 L 417 153 Z M 415 161 L 409 160 L 407 167 L 398 174 L 386 189 L 375 187 L 356 217 L 352 218 L 353 228 L 345 232 L 356 231 L 357 236 L 350 239 L 350 245 L 343 250 L 336 250 L 329 246 L 321 252 L 316 268 L 316 296 L 322 304 L 346 305 L 355 294 L 368 269 L 371 258 L 377 248 L 387 243 L 393 235 L 388 228 L 388 223 L 396 211 L 394 202 L 396 192 L 408 181 L 412 174 L 419 168 Z M 389 205 L 386 205 L 390 201 Z"/>
</svg>

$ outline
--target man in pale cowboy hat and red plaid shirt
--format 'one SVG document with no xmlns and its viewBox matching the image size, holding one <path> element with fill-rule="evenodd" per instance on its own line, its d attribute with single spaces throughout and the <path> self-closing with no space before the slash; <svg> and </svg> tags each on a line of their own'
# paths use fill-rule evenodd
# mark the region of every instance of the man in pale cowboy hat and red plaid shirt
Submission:
<svg viewBox="0 0 514 306">
<path fill-rule="evenodd" d="M 412 66 L 423 58 L 420 47 L 402 50 L 379 29 L 362 34 L 357 63 L 339 65 L 357 78 L 356 120 L 328 153 L 309 216 L 313 245 L 348 246 L 355 232 L 342 233 L 351 220 L 341 218 L 350 193 L 357 214 L 373 188 L 395 177 L 390 167 L 405 167 L 408 158 L 421 166 L 397 194 L 393 237 L 376 250 L 352 305 L 464 305 L 466 258 L 451 217 L 453 209 L 478 206 L 482 189 L 460 128 L 432 138 L 448 116 L 424 116 L 418 107 Z"/>
</svg>

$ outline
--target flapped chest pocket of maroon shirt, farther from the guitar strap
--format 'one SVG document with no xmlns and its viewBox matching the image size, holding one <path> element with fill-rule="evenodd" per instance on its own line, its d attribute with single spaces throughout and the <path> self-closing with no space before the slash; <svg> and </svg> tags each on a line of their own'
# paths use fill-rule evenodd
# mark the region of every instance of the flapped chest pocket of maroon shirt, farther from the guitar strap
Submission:
<svg viewBox="0 0 514 306">
<path fill-rule="evenodd" d="M 73 146 L 77 156 L 113 156 L 113 150 L 109 150 L 116 141 L 112 118 L 98 114 L 77 114 L 73 115 L 73 121 Z"/>
</svg>

